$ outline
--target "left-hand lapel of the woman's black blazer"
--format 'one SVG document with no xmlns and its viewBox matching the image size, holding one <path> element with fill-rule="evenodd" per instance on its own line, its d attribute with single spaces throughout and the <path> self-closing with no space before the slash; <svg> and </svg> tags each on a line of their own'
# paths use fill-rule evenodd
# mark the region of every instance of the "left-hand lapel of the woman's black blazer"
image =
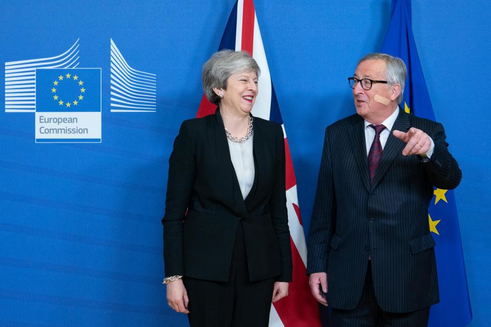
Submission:
<svg viewBox="0 0 491 327">
<path fill-rule="evenodd" d="M 225 134 L 224 122 L 221 119 L 220 108 L 215 111 L 215 175 L 217 181 L 225 186 L 225 189 L 221 192 L 220 197 L 227 199 L 230 207 L 233 209 L 235 215 L 240 218 L 247 218 L 247 210 L 245 209 L 244 199 L 242 198 L 242 192 L 240 191 L 239 182 L 237 180 L 237 174 L 235 173 L 232 159 L 230 158 L 229 143 Z"/>
</svg>

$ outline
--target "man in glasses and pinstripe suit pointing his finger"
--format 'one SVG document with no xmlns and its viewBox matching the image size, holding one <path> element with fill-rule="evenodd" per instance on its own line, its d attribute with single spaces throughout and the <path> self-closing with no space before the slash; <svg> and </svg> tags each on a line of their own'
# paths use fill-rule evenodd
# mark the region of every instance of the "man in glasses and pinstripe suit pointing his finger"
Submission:
<svg viewBox="0 0 491 327">
<path fill-rule="evenodd" d="M 439 301 L 428 206 L 462 174 L 443 126 L 398 108 L 406 75 L 400 58 L 363 57 L 356 114 L 326 128 L 307 273 L 335 326 L 426 326 Z"/>
</svg>

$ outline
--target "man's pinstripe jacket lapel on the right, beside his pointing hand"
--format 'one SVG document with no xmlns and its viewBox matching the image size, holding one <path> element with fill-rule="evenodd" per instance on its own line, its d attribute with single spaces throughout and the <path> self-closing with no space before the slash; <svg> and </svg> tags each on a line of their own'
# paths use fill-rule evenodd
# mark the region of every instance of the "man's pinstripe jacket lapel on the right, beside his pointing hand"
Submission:
<svg viewBox="0 0 491 327">
<path fill-rule="evenodd" d="M 400 141 L 397 137 L 392 134 L 392 131 L 399 130 L 403 132 L 407 132 L 409 130 L 409 115 L 403 112 L 403 110 L 399 110 L 399 114 L 392 126 L 392 130 L 390 131 L 389 138 L 387 139 L 387 143 L 385 144 L 384 151 L 382 152 L 382 156 L 380 157 L 380 161 L 378 162 L 377 171 L 375 172 L 375 177 L 372 181 L 372 189 L 382 180 L 394 159 L 403 151 L 404 142 Z"/>
</svg>

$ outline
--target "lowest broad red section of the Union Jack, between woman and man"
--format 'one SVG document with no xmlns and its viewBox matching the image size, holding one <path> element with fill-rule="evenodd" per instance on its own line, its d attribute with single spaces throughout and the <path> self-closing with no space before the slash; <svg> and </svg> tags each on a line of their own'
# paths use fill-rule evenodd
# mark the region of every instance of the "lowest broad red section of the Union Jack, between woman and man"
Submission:
<svg viewBox="0 0 491 327">
<path fill-rule="evenodd" d="M 293 282 L 288 296 L 273 303 L 285 327 L 321 327 L 319 307 L 310 293 L 308 277 L 300 253 L 290 238 L 293 259 Z"/>
</svg>

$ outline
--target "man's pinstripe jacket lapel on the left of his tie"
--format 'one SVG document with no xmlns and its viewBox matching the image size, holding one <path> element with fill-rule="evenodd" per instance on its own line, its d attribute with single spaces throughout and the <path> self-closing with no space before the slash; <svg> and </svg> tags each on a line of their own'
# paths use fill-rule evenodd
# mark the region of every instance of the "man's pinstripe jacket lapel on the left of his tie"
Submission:
<svg viewBox="0 0 491 327">
<path fill-rule="evenodd" d="M 351 120 L 351 128 L 349 130 L 349 143 L 353 152 L 356 165 L 360 172 L 363 185 L 367 191 L 370 191 L 370 176 L 368 175 L 367 164 L 367 148 L 365 142 L 364 120 L 360 115 L 354 115 Z"/>
</svg>

